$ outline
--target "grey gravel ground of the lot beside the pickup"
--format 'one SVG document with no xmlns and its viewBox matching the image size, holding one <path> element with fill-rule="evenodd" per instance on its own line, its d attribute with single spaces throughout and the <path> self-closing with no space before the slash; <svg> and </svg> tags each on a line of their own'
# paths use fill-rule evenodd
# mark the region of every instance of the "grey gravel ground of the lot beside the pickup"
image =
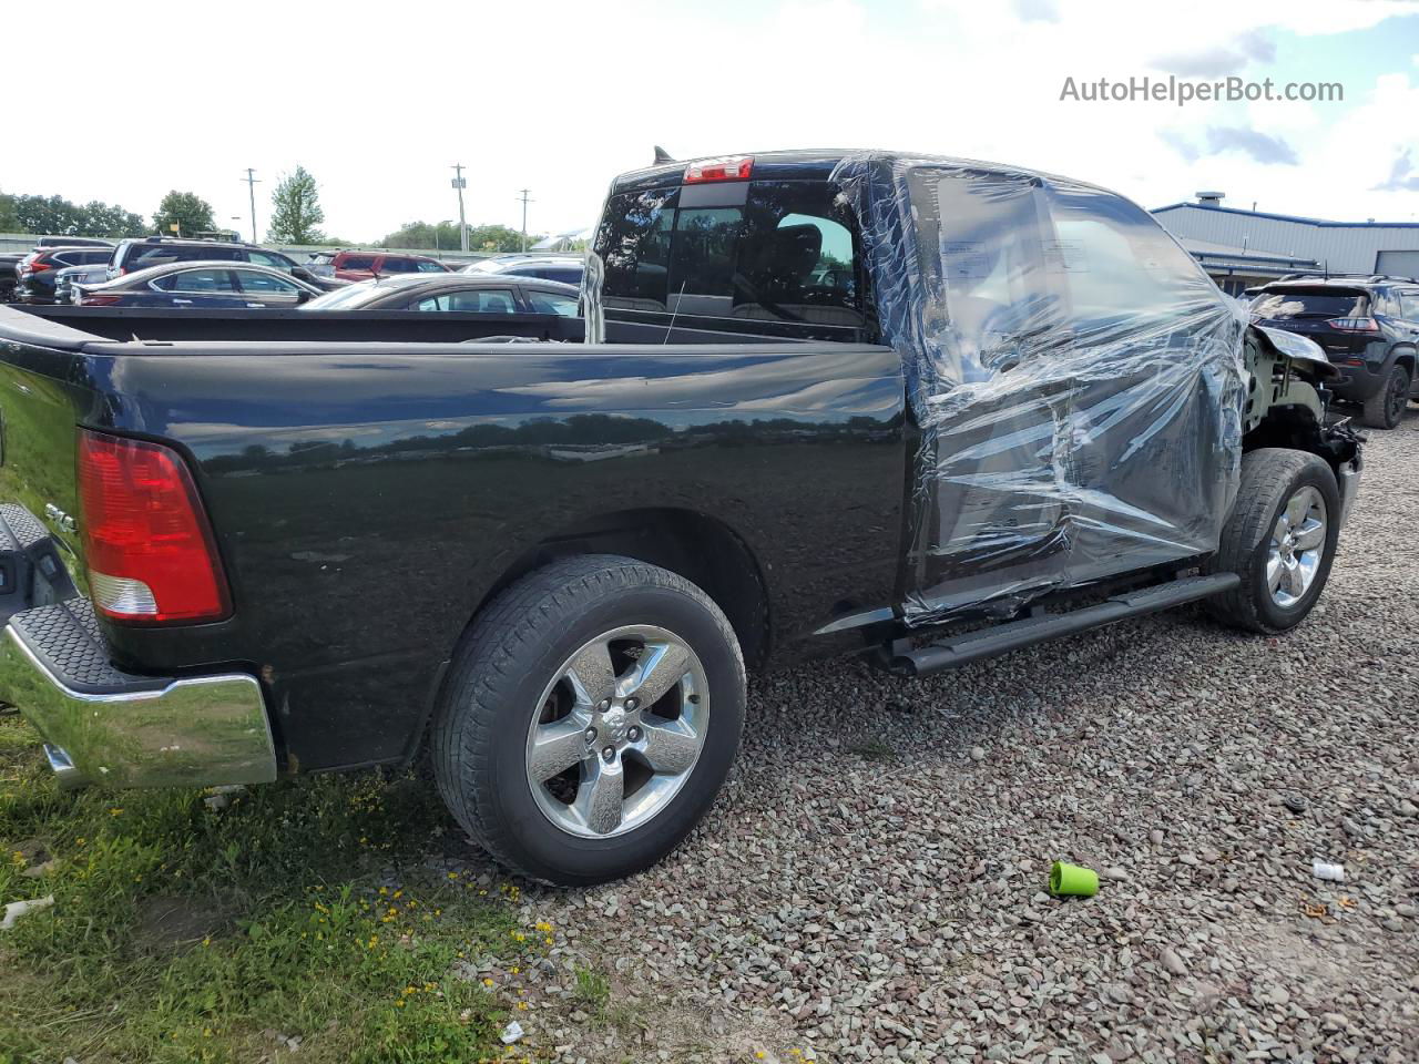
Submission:
<svg viewBox="0 0 1419 1064">
<path fill-rule="evenodd" d="M 484 972 L 522 987 L 528 1040 L 566 1061 L 1419 1060 L 1419 410 L 1369 436 L 1330 587 L 1284 638 L 1193 609 L 922 681 L 762 677 L 678 853 L 521 887 L 552 956 Z M 1100 870 L 1098 895 L 1047 897 L 1056 858 Z"/>
</svg>

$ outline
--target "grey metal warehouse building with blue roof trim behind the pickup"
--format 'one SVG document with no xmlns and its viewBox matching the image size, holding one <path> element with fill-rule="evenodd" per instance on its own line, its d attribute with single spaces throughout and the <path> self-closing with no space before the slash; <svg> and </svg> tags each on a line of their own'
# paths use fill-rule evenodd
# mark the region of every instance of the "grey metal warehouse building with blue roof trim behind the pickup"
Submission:
<svg viewBox="0 0 1419 1064">
<path fill-rule="evenodd" d="M 1419 221 L 1321 221 L 1222 206 L 1222 193 L 1154 211 L 1225 291 L 1283 274 L 1419 277 Z"/>
</svg>

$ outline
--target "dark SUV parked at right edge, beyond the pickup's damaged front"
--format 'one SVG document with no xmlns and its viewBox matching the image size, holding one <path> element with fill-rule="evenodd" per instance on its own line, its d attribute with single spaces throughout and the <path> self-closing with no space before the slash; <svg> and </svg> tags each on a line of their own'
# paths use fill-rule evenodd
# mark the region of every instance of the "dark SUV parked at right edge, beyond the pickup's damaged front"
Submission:
<svg viewBox="0 0 1419 1064">
<path fill-rule="evenodd" d="M 1341 372 L 1335 397 L 1364 406 L 1364 423 L 1393 428 L 1419 399 L 1419 281 L 1412 277 L 1286 277 L 1261 288 L 1252 321 L 1300 333 Z"/>
</svg>

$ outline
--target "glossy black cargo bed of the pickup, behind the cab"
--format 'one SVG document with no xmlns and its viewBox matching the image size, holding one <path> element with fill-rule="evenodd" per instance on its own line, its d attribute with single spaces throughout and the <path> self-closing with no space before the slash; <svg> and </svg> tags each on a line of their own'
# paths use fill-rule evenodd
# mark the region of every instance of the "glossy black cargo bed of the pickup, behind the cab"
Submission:
<svg viewBox="0 0 1419 1064">
<path fill-rule="evenodd" d="M 183 454 L 233 616 L 99 630 L 126 672 L 258 677 L 287 770 L 409 753 L 470 617 L 559 538 L 647 515 L 724 529 L 758 559 L 790 654 L 894 600 L 908 460 L 890 348 L 667 343 L 622 323 L 609 338 L 640 342 L 454 343 L 414 339 L 447 326 L 407 312 L 385 315 L 399 339 L 342 315 L 380 336 L 350 339 L 295 312 L 88 309 L 0 308 L 0 497 L 45 523 L 82 586 L 64 522 L 77 426 Z M 579 339 L 578 321 L 545 325 Z M 226 338 L 241 329 L 270 335 Z"/>
</svg>

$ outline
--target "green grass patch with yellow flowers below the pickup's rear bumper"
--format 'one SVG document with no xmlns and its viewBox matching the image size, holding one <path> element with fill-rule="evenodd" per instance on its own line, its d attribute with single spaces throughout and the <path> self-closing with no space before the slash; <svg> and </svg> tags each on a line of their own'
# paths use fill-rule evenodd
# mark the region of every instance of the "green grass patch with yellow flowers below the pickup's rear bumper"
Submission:
<svg viewBox="0 0 1419 1064">
<path fill-rule="evenodd" d="M 502 1060 L 504 987 L 453 970 L 549 932 L 517 925 L 515 887 L 423 868 L 446 830 L 409 776 L 255 787 L 220 811 L 194 790 L 62 793 L 0 716 L 0 902 L 55 898 L 0 932 L 0 1064 Z"/>
</svg>

